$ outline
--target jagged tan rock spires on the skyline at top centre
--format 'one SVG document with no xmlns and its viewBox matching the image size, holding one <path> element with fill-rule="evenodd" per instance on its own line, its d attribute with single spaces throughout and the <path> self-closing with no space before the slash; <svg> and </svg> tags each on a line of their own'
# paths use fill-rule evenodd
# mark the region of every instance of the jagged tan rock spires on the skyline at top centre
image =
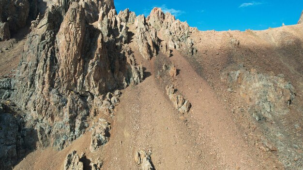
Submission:
<svg viewBox="0 0 303 170">
<path fill-rule="evenodd" d="M 138 50 L 146 59 L 156 56 L 159 51 L 169 57 L 173 49 L 183 50 L 189 55 L 197 53 L 190 38 L 197 28 L 189 27 L 169 13 L 164 14 L 161 8 L 154 8 L 147 18 L 137 16 L 135 26 Z"/>
</svg>

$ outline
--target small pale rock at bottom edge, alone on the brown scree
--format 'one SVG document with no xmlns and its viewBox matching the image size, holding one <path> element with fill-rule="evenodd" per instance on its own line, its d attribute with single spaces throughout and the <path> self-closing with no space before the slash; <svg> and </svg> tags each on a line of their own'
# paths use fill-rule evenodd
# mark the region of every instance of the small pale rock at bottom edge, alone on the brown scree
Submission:
<svg viewBox="0 0 303 170">
<path fill-rule="evenodd" d="M 154 170 L 151 156 L 145 151 L 136 152 L 135 161 L 138 165 L 141 165 L 142 170 Z"/>
</svg>

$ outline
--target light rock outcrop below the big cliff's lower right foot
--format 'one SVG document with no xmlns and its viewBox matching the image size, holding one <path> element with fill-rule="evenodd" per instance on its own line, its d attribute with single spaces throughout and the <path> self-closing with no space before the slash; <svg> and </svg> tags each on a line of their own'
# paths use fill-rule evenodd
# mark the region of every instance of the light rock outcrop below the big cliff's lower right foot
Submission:
<svg viewBox="0 0 303 170">
<path fill-rule="evenodd" d="M 91 152 L 109 141 L 110 125 L 105 119 L 99 119 L 91 128 Z"/>
</svg>

